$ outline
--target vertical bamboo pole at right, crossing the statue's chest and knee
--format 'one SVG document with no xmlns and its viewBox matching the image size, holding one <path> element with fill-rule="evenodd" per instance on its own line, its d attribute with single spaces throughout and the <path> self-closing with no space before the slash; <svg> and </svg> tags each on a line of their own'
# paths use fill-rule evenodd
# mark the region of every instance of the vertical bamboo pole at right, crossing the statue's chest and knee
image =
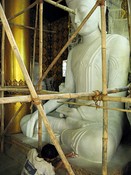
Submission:
<svg viewBox="0 0 131 175">
<path fill-rule="evenodd" d="M 102 91 L 107 95 L 106 79 L 106 19 L 105 0 L 101 0 L 101 38 L 102 38 Z M 103 101 L 103 147 L 102 147 L 102 175 L 107 175 L 107 142 L 108 142 L 108 110 L 107 102 Z"/>
</svg>

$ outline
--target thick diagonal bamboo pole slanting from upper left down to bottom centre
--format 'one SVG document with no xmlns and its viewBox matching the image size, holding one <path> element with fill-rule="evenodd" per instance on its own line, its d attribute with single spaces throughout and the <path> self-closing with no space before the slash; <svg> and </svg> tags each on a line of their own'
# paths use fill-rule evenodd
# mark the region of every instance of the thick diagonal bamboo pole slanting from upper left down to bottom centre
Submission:
<svg viewBox="0 0 131 175">
<path fill-rule="evenodd" d="M 51 138 L 52 142 L 54 143 L 54 145 L 55 145 L 55 147 L 56 147 L 56 149 L 57 149 L 57 151 L 58 151 L 58 153 L 59 153 L 59 155 L 60 155 L 64 165 L 65 165 L 65 168 L 67 169 L 67 171 L 68 171 L 68 173 L 70 175 L 74 175 L 74 172 L 72 171 L 72 168 L 71 168 L 69 162 L 67 161 L 67 159 L 66 159 L 66 157 L 65 157 L 65 155 L 64 155 L 64 153 L 63 153 L 63 151 L 62 151 L 62 149 L 61 149 L 61 147 L 59 145 L 59 142 L 58 142 L 57 138 L 55 137 L 55 135 L 53 133 L 53 130 L 52 130 L 52 128 L 51 128 L 47 118 L 46 118 L 46 114 L 45 114 L 45 112 L 43 110 L 41 101 L 40 101 L 40 99 L 39 99 L 39 97 L 38 97 L 38 95 L 37 95 L 37 93 L 35 91 L 35 88 L 34 88 L 32 82 L 31 82 L 31 79 L 29 77 L 28 71 L 27 71 L 27 69 L 26 69 L 26 67 L 25 67 L 25 65 L 24 65 L 24 63 L 22 61 L 19 49 L 18 49 L 17 44 L 16 44 L 16 42 L 14 40 L 14 37 L 12 35 L 11 29 L 9 27 L 8 21 L 6 19 L 4 11 L 2 9 L 1 3 L 0 3 L 0 17 L 1 17 L 2 24 L 4 26 L 5 32 L 7 34 L 7 37 L 9 39 L 9 42 L 11 44 L 11 47 L 12 47 L 12 49 L 14 51 L 14 54 L 15 54 L 15 56 L 17 58 L 17 61 L 18 61 L 19 66 L 21 68 L 21 71 L 22 71 L 22 73 L 23 73 L 23 75 L 25 77 L 27 86 L 28 86 L 28 88 L 30 90 L 30 93 L 31 93 L 31 96 L 32 96 L 32 100 L 34 101 L 35 105 L 38 108 L 38 111 L 39 111 L 39 113 L 40 113 L 40 115 L 42 117 L 42 120 L 43 120 L 43 122 L 45 124 L 45 127 L 46 127 L 46 129 L 47 129 L 47 131 L 48 131 L 48 133 L 50 135 L 50 138 Z"/>
</svg>

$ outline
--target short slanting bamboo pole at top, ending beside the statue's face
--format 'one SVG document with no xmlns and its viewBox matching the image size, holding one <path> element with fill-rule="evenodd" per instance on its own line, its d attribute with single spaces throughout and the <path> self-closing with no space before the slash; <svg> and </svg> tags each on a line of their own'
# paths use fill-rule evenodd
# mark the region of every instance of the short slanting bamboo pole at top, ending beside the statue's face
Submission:
<svg viewBox="0 0 131 175">
<path fill-rule="evenodd" d="M 58 2 L 55 2 L 55 1 L 52 1 L 52 0 L 44 0 L 44 1 L 47 2 L 47 3 L 49 3 L 49 4 L 54 5 L 55 7 L 58 7 L 60 9 L 62 9 L 62 10 L 65 10 L 65 11 L 67 11 L 69 13 L 75 14 L 74 10 L 72 10 L 72 9 L 70 9 L 70 8 L 64 6 L 64 5 L 61 5 Z"/>
</svg>

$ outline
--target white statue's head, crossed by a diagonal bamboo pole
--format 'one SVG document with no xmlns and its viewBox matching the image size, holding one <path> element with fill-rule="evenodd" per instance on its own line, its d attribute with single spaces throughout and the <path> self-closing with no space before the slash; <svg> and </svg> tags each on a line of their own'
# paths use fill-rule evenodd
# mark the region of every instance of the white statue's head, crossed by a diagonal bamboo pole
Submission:
<svg viewBox="0 0 131 175">
<path fill-rule="evenodd" d="M 92 7 L 95 5 L 95 0 L 67 0 L 68 7 L 73 9 L 76 13 L 70 14 L 72 24 L 75 29 L 81 24 L 83 19 L 90 12 Z M 87 20 L 85 25 L 80 30 L 80 35 L 88 35 L 98 29 L 100 20 L 100 8 L 97 7 L 95 12 L 91 15 L 91 17 Z"/>
</svg>

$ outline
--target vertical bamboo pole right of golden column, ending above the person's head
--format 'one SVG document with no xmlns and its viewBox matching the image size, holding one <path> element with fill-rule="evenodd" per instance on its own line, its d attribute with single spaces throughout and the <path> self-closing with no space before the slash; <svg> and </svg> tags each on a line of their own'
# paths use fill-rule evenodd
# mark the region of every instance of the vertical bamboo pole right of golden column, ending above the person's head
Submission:
<svg viewBox="0 0 131 175">
<path fill-rule="evenodd" d="M 43 2 L 39 4 L 39 79 L 42 77 L 42 56 L 43 56 Z M 42 82 L 39 84 L 42 89 Z M 38 148 L 42 147 L 42 118 L 39 114 L 38 121 Z"/>
</svg>

